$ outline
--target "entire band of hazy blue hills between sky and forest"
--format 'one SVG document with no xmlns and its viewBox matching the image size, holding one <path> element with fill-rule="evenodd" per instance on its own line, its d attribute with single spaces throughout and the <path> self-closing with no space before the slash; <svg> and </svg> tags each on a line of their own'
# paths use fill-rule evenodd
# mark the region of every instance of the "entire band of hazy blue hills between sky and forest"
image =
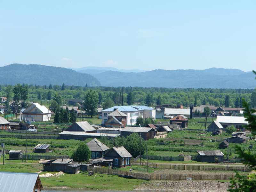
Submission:
<svg viewBox="0 0 256 192">
<path fill-rule="evenodd" d="M 253 73 L 239 69 L 141 71 L 85 67 L 75 70 L 44 65 L 11 64 L 0 67 L 0 84 L 61 85 L 64 83 L 66 85 L 85 86 L 87 84 L 88 86 L 114 87 L 255 88 Z"/>
</svg>

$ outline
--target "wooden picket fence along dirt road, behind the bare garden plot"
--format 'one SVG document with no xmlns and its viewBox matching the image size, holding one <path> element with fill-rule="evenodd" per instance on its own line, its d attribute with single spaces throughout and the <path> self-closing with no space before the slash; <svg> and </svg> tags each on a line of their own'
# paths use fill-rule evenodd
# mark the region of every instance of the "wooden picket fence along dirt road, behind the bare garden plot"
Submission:
<svg viewBox="0 0 256 192">
<path fill-rule="evenodd" d="M 140 165 L 140 163 L 132 163 L 132 165 Z M 147 162 L 141 162 L 141 166 L 147 166 Z M 245 166 L 224 166 L 224 165 L 200 165 L 200 164 L 155 164 L 148 163 L 148 167 L 157 169 L 174 169 L 188 171 L 241 171 L 251 172 L 250 167 Z"/>
</svg>

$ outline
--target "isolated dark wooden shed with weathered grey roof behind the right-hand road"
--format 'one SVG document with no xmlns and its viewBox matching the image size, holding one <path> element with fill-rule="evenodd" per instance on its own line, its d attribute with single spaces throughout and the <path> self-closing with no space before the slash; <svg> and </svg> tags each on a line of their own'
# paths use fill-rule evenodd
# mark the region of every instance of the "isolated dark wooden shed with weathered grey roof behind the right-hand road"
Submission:
<svg viewBox="0 0 256 192">
<path fill-rule="evenodd" d="M 220 150 L 197 151 L 198 160 L 208 163 L 223 163 L 224 154 Z"/>
</svg>

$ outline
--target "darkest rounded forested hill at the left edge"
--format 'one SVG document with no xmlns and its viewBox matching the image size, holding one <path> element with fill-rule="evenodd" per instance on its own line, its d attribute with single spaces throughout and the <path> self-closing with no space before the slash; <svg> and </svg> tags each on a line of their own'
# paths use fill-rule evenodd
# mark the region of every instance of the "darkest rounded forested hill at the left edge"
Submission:
<svg viewBox="0 0 256 192">
<path fill-rule="evenodd" d="M 0 84 L 80 85 L 99 86 L 100 82 L 89 74 L 44 65 L 11 64 L 0 67 Z"/>
</svg>

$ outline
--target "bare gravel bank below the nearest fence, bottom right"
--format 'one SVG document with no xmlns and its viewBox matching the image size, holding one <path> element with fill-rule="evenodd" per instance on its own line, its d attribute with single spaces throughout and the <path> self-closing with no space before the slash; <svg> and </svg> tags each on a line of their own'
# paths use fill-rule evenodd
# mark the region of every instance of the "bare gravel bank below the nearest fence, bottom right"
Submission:
<svg viewBox="0 0 256 192">
<path fill-rule="evenodd" d="M 226 192 L 229 182 L 218 181 L 149 181 L 134 190 L 168 192 Z"/>
</svg>

